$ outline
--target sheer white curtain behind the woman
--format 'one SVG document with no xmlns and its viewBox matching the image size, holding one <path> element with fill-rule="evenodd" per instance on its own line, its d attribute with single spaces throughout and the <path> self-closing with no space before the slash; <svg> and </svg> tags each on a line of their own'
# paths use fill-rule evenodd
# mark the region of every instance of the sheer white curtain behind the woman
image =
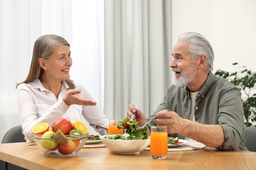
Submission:
<svg viewBox="0 0 256 170">
<path fill-rule="evenodd" d="M 71 78 L 103 106 L 103 2 L 0 0 L 0 142 L 20 124 L 15 85 L 28 75 L 33 43 L 41 35 L 57 34 L 70 42 Z"/>
</svg>

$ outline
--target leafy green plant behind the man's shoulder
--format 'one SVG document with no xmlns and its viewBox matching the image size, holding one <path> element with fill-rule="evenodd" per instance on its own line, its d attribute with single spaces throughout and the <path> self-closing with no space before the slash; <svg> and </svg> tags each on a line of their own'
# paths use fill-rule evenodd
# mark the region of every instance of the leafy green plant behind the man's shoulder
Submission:
<svg viewBox="0 0 256 170">
<path fill-rule="evenodd" d="M 233 63 L 238 65 L 238 63 Z M 256 73 L 247 67 L 238 67 L 238 71 L 228 72 L 217 70 L 215 75 L 220 76 L 236 85 L 242 92 L 245 127 L 255 126 L 256 122 Z"/>
</svg>

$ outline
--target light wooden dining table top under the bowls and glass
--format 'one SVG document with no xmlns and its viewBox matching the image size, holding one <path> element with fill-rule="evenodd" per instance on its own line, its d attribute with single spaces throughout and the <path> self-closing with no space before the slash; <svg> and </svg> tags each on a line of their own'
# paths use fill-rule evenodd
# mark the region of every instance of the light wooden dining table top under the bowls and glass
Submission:
<svg viewBox="0 0 256 170">
<path fill-rule="evenodd" d="M 150 151 L 114 154 L 108 148 L 82 148 L 75 156 L 47 157 L 31 143 L 0 144 L 0 160 L 26 169 L 256 169 L 256 152 L 188 150 L 154 160 Z"/>
</svg>

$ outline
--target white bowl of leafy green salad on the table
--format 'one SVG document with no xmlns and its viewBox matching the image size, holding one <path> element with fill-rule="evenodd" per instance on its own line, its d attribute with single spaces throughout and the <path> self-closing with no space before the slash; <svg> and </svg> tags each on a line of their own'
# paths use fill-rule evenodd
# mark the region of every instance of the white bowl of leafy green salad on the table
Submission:
<svg viewBox="0 0 256 170">
<path fill-rule="evenodd" d="M 139 122 L 125 118 L 117 125 L 125 129 L 124 134 L 103 135 L 101 141 L 115 154 L 139 154 L 150 144 L 147 127 L 138 129 Z"/>
</svg>

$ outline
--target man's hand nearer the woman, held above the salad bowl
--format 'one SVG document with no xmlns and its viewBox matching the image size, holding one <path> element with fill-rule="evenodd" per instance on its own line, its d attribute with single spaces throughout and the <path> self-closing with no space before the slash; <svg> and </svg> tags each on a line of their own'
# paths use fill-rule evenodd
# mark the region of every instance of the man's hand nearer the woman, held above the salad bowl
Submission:
<svg viewBox="0 0 256 170">
<path fill-rule="evenodd" d="M 143 126 L 146 123 L 146 118 L 144 114 L 135 107 L 135 105 L 129 105 L 129 110 L 127 110 L 127 118 L 131 118 L 131 115 L 135 113 L 133 120 L 139 122 L 139 126 Z"/>
</svg>

